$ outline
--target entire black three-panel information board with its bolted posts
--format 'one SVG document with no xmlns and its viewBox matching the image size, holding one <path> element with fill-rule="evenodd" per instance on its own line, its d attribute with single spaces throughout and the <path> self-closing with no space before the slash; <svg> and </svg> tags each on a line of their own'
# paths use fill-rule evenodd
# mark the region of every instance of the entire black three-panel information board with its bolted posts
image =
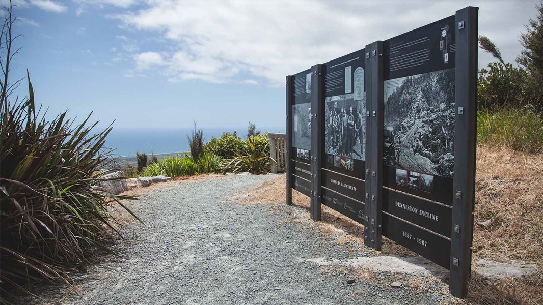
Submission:
<svg viewBox="0 0 543 305">
<path fill-rule="evenodd" d="M 287 76 L 287 204 L 294 188 L 450 270 L 471 270 L 477 14 L 466 7 Z M 362 45 L 363 46 L 363 45 Z"/>
</svg>

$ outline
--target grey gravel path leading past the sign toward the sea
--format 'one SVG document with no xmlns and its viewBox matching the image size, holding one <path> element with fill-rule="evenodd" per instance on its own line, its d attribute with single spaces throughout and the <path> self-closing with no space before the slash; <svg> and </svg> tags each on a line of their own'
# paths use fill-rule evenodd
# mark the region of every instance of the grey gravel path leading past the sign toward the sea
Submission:
<svg viewBox="0 0 543 305">
<path fill-rule="evenodd" d="M 277 177 L 231 176 L 180 181 L 151 190 L 130 208 L 145 226 L 78 279 L 79 294 L 50 288 L 42 300 L 63 304 L 438 304 L 426 289 L 351 281 L 311 259 L 347 259 L 346 247 L 310 226 L 286 221 L 289 209 L 238 205 L 229 198 Z M 307 220 L 307 222 L 311 222 Z M 358 255 L 365 255 L 360 252 Z M 351 255 L 352 258 L 352 255 Z M 321 272 L 319 272 L 319 270 Z M 60 290 L 60 291 L 59 291 Z"/>
</svg>

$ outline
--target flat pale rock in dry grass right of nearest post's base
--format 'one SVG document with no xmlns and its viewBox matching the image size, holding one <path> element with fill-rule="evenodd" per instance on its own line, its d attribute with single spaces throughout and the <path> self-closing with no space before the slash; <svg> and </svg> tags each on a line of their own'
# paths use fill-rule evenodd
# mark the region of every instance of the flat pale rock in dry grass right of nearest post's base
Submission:
<svg viewBox="0 0 543 305">
<path fill-rule="evenodd" d="M 538 270 L 535 265 L 522 261 L 512 263 L 497 263 L 487 259 L 478 259 L 475 262 L 476 271 L 484 277 L 498 280 L 506 277 L 522 277 L 535 274 Z"/>
</svg>

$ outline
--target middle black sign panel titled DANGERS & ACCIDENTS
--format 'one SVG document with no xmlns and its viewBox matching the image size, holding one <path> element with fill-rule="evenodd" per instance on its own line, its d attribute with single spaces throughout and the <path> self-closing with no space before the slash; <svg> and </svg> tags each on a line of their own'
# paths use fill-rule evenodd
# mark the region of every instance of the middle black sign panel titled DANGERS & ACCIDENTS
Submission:
<svg viewBox="0 0 543 305">
<path fill-rule="evenodd" d="M 364 49 L 323 64 L 324 160 L 322 203 L 364 219 Z M 323 115 L 323 114 L 321 114 Z"/>
</svg>

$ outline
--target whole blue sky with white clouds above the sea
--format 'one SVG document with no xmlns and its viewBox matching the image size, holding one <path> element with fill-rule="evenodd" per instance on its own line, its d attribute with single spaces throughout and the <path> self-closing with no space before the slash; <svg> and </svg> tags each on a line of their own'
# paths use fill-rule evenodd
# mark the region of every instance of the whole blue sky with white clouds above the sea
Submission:
<svg viewBox="0 0 543 305">
<path fill-rule="evenodd" d="M 15 3 L 24 37 L 12 80 L 29 69 L 36 101 L 50 113 L 94 111 L 116 128 L 185 128 L 193 119 L 282 126 L 285 75 L 466 5 L 481 8 L 479 33 L 514 61 L 536 2 Z M 479 53 L 480 67 L 490 60 Z"/>
</svg>

